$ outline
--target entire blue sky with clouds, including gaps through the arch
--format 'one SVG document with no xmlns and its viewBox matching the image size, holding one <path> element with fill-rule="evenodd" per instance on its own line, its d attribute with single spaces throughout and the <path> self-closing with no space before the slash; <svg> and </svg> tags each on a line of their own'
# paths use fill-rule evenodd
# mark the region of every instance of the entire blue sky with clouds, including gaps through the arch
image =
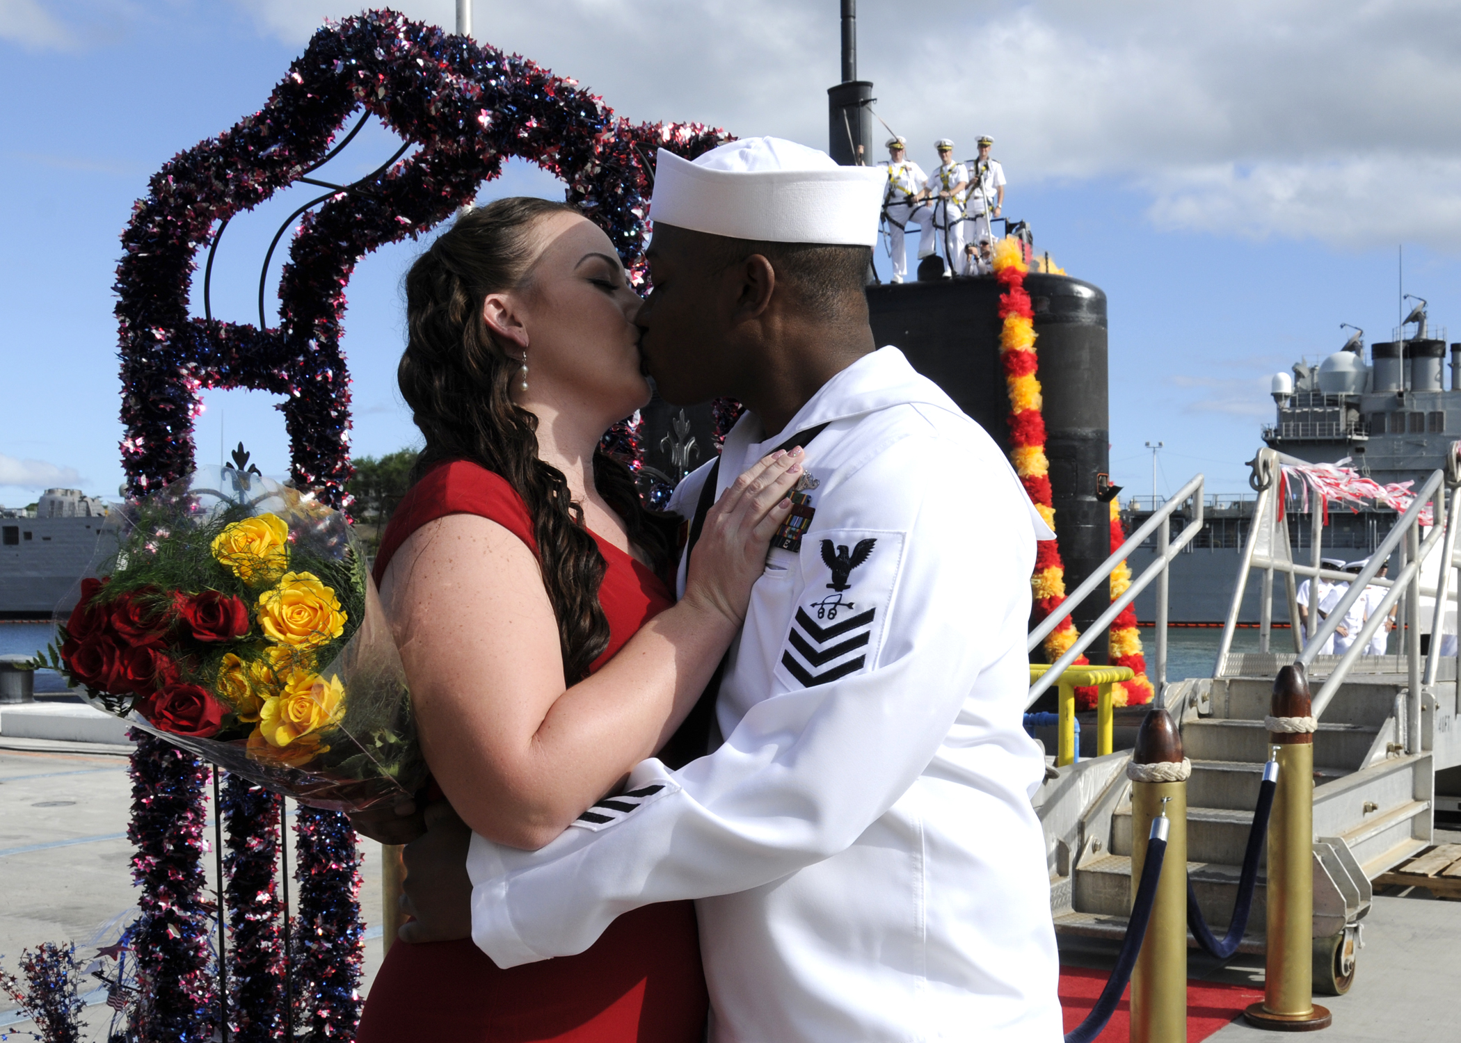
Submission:
<svg viewBox="0 0 1461 1043">
<path fill-rule="evenodd" d="M 453 23 L 451 0 L 397 4 Z M 633 120 L 700 120 L 825 145 L 836 0 L 476 0 L 473 35 L 574 76 Z M 995 137 L 1007 213 L 1110 298 L 1115 481 L 1157 491 L 1204 470 L 1245 488 L 1268 375 L 1389 339 L 1401 292 L 1461 339 L 1461 15 L 1426 1 L 1156 0 L 859 4 L 877 112 L 931 143 Z M 327 0 L 0 0 L 0 504 L 47 485 L 114 495 L 117 235 L 148 175 L 267 98 Z M 925 10 L 925 7 L 916 7 Z M 393 150 L 362 134 L 339 174 Z M 970 149 L 972 150 L 972 149 Z M 514 165 L 487 194 L 551 194 Z M 215 310 L 257 321 L 259 263 L 288 193 L 229 226 Z M 355 447 L 413 428 L 392 374 L 400 275 L 419 244 L 361 264 L 346 340 Z M 269 291 L 273 302 L 273 291 Z M 202 459 L 243 438 L 286 467 L 269 396 L 209 393 Z"/>
</svg>

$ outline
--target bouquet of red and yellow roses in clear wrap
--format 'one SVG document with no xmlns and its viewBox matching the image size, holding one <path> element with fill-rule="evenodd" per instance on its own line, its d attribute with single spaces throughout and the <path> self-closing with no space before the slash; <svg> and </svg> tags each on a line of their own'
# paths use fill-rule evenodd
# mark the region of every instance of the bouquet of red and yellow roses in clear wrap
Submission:
<svg viewBox="0 0 1461 1043">
<path fill-rule="evenodd" d="M 129 505 L 91 571 L 48 656 L 92 706 L 316 808 L 424 782 L 400 654 L 339 511 L 203 467 Z"/>
</svg>

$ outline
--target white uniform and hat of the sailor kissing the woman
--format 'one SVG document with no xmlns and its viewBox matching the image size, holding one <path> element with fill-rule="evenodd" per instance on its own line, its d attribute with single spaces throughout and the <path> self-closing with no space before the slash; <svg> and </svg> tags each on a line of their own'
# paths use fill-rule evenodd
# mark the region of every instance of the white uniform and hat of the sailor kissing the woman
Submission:
<svg viewBox="0 0 1461 1043">
<path fill-rule="evenodd" d="M 656 225 L 874 245 L 881 186 L 853 199 L 859 168 L 774 140 L 694 164 L 662 150 Z M 786 191 L 812 207 L 799 229 L 767 219 Z M 747 412 L 671 501 L 694 516 L 707 482 L 805 447 L 809 526 L 779 536 L 752 590 L 713 752 L 640 763 L 542 850 L 473 836 L 472 936 L 514 967 L 697 898 L 716 1043 L 1056 1043 L 1043 758 L 1021 729 L 1030 573 L 1052 535 L 989 435 L 896 348 L 777 427 Z"/>
</svg>

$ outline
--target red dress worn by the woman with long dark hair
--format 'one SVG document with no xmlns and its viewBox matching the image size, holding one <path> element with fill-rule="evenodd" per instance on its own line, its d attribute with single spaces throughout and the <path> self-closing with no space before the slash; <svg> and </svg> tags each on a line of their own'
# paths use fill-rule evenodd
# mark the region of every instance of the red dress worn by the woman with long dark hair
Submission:
<svg viewBox="0 0 1461 1043">
<path fill-rule="evenodd" d="M 402 500 L 375 559 L 375 580 L 411 533 L 447 514 L 491 519 L 538 554 L 527 507 L 498 475 L 443 463 Z M 609 646 L 599 669 L 674 603 L 665 583 L 595 535 L 608 568 L 599 602 Z M 470 939 L 386 954 L 361 1017 L 358 1043 L 700 1043 L 707 1009 L 695 910 L 690 901 L 625 913 L 587 951 L 501 970 Z"/>
</svg>

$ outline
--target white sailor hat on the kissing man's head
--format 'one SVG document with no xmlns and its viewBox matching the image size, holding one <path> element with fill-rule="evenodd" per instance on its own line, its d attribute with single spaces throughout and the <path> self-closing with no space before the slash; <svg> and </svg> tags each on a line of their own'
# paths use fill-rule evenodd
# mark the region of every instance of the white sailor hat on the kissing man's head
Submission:
<svg viewBox="0 0 1461 1043">
<path fill-rule="evenodd" d="M 649 216 L 733 240 L 871 247 L 885 180 L 783 137 L 742 137 L 694 162 L 660 149 Z"/>
</svg>

